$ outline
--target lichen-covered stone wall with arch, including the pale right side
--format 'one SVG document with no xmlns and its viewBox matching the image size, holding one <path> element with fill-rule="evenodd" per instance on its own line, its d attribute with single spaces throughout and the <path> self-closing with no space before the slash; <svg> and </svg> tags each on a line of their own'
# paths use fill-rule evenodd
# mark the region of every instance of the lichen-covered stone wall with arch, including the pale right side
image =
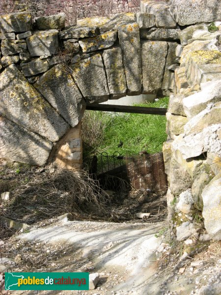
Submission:
<svg viewBox="0 0 221 295">
<path fill-rule="evenodd" d="M 208 30 L 221 7 L 195 2 L 143 0 L 140 13 L 68 28 L 63 13 L 1 16 L 1 161 L 79 169 L 86 103 L 170 94 L 164 159 L 177 239 L 198 238 L 197 210 L 221 239 L 221 30 Z"/>
</svg>

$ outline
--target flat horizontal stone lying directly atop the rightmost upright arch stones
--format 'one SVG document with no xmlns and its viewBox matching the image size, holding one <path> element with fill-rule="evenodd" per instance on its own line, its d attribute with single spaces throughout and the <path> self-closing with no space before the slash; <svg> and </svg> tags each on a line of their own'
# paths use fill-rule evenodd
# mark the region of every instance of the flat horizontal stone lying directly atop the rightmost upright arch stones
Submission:
<svg viewBox="0 0 221 295">
<path fill-rule="evenodd" d="M 140 38 L 156 41 L 176 41 L 180 39 L 180 29 L 141 29 Z"/>
</svg>

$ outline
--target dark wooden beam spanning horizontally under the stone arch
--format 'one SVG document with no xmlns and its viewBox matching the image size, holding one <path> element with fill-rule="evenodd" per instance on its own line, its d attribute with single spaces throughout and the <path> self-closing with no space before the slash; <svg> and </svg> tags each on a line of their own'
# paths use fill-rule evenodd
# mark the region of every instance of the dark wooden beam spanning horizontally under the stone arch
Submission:
<svg viewBox="0 0 221 295">
<path fill-rule="evenodd" d="M 134 106 L 118 106 L 107 104 L 88 104 L 86 110 L 116 112 L 116 113 L 135 113 L 135 114 L 149 114 L 149 115 L 166 115 L 167 109 L 164 108 L 147 108 Z"/>
</svg>

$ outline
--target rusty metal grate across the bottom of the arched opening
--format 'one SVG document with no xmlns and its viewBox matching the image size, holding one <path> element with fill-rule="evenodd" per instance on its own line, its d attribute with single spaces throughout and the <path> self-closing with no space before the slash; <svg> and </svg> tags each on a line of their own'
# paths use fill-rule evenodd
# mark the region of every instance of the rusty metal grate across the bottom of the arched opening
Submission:
<svg viewBox="0 0 221 295">
<path fill-rule="evenodd" d="M 109 155 L 93 150 L 83 159 L 84 169 L 98 178 L 116 175 L 127 180 L 135 188 L 145 188 L 156 193 L 166 193 L 168 188 L 163 153 L 141 156 L 122 156 L 119 152 Z"/>
</svg>

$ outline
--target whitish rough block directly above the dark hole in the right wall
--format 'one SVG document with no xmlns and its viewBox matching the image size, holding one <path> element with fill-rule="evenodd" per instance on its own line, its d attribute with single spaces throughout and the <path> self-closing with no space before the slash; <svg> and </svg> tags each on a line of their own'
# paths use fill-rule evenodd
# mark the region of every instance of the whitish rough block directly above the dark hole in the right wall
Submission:
<svg viewBox="0 0 221 295">
<path fill-rule="evenodd" d="M 173 149 L 179 150 L 184 159 L 197 157 L 204 152 L 221 155 L 221 124 L 213 124 L 196 134 L 182 134 L 173 141 Z"/>
</svg>

